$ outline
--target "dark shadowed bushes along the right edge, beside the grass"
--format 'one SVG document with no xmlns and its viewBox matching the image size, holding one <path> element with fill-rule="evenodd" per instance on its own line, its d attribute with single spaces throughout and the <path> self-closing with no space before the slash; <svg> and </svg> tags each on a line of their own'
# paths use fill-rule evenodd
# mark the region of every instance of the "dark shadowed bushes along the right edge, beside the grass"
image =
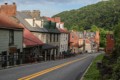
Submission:
<svg viewBox="0 0 120 80">
<path fill-rule="evenodd" d="M 115 49 L 111 55 L 103 58 L 103 72 L 106 72 L 103 80 L 120 79 L 120 23 L 114 29 Z"/>
</svg>

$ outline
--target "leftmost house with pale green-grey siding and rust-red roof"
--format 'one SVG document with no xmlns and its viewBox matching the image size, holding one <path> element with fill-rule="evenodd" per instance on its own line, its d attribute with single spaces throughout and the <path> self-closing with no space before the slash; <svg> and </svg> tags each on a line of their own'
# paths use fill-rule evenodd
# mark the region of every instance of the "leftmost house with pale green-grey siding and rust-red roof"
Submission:
<svg viewBox="0 0 120 80">
<path fill-rule="evenodd" d="M 23 28 L 0 13 L 0 67 L 20 64 L 23 52 Z"/>
</svg>

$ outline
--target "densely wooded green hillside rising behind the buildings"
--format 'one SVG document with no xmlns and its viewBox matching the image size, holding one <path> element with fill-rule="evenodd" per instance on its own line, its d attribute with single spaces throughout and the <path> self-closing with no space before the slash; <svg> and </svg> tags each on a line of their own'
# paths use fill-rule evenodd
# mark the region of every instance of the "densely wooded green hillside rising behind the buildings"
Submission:
<svg viewBox="0 0 120 80">
<path fill-rule="evenodd" d="M 65 22 L 65 27 L 72 26 L 90 29 L 92 25 L 112 30 L 114 25 L 120 22 L 120 1 L 101 1 L 97 4 L 88 5 L 80 9 L 64 11 L 53 17 L 59 16 Z"/>
</svg>

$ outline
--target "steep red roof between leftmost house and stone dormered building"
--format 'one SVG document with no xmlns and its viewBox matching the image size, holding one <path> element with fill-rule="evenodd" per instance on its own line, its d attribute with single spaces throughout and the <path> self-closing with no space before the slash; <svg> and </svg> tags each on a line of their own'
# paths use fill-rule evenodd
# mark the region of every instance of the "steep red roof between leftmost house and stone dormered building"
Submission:
<svg viewBox="0 0 120 80">
<path fill-rule="evenodd" d="M 25 46 L 43 45 L 43 42 L 35 37 L 29 30 L 24 28 L 24 44 Z"/>
</svg>

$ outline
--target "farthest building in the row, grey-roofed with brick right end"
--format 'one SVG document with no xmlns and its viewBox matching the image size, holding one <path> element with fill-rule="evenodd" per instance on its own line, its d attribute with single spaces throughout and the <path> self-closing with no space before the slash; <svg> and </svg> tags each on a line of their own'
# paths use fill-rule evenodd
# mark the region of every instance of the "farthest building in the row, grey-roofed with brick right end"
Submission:
<svg viewBox="0 0 120 80">
<path fill-rule="evenodd" d="M 98 52 L 99 44 L 100 44 L 100 34 L 99 31 L 96 32 L 87 32 L 84 31 L 84 51 L 91 53 L 91 52 Z"/>
</svg>

